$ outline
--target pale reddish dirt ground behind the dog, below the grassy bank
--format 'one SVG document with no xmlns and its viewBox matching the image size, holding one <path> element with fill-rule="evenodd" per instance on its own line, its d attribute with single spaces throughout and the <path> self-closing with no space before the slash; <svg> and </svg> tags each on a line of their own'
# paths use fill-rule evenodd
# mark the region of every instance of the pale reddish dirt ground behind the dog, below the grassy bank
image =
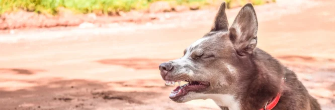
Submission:
<svg viewBox="0 0 335 110">
<path fill-rule="evenodd" d="M 322 109 L 335 109 L 335 1 L 292 2 L 255 7 L 258 47 L 296 71 Z M 215 11 L 2 33 L 0 109 L 219 109 L 211 99 L 173 102 L 175 87 L 158 70 L 209 30 Z M 237 12 L 227 10 L 229 22 Z"/>
</svg>

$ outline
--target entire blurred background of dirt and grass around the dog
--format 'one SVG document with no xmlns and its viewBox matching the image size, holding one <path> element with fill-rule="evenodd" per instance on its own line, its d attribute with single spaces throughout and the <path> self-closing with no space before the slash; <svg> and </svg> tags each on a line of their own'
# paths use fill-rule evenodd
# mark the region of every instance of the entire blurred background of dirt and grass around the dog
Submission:
<svg viewBox="0 0 335 110">
<path fill-rule="evenodd" d="M 247 2 L 258 47 L 335 108 L 335 0 L 0 0 L 0 109 L 219 109 L 176 103 L 161 62 Z"/>
</svg>

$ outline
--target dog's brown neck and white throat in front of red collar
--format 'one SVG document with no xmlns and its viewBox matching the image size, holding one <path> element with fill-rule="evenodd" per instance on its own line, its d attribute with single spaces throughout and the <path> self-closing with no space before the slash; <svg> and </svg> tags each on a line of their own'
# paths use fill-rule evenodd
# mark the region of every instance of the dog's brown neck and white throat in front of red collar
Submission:
<svg viewBox="0 0 335 110">
<path fill-rule="evenodd" d="M 258 68 L 258 67 L 255 67 Z M 262 69 L 265 70 L 265 69 Z M 243 86 L 238 87 L 237 94 L 206 94 L 221 109 L 229 110 L 264 108 L 282 90 L 281 75 L 269 74 L 269 71 L 255 70 L 240 79 Z M 245 73 L 246 74 L 246 73 Z"/>
</svg>

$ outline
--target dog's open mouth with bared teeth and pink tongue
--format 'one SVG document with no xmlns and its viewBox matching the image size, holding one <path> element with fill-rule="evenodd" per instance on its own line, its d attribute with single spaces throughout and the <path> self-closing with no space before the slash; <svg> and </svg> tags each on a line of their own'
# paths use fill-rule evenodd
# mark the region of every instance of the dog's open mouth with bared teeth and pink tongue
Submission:
<svg viewBox="0 0 335 110">
<path fill-rule="evenodd" d="M 175 84 L 176 82 L 179 83 L 179 86 L 177 86 L 175 89 L 171 91 L 171 94 L 170 94 L 171 99 L 184 96 L 190 91 L 196 91 L 196 92 L 202 91 L 203 89 L 209 86 L 209 82 L 206 82 L 206 81 L 183 80 L 188 83 L 184 85 L 180 85 L 181 81 L 182 80 L 175 80 L 175 81 L 165 80 L 165 84 L 167 85 Z"/>
</svg>

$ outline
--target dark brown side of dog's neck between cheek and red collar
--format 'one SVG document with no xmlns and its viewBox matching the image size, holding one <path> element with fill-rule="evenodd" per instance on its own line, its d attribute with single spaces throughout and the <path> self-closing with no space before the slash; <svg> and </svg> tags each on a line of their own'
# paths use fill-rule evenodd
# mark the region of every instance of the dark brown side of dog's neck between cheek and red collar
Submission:
<svg viewBox="0 0 335 110">
<path fill-rule="evenodd" d="M 237 94 L 237 99 L 240 100 L 240 109 L 264 108 L 266 103 L 281 91 L 282 76 L 271 73 L 272 70 L 264 69 L 264 64 L 255 65 L 257 68 L 255 72 L 249 73 L 241 79 L 244 86 L 239 87 L 241 92 Z"/>
</svg>

